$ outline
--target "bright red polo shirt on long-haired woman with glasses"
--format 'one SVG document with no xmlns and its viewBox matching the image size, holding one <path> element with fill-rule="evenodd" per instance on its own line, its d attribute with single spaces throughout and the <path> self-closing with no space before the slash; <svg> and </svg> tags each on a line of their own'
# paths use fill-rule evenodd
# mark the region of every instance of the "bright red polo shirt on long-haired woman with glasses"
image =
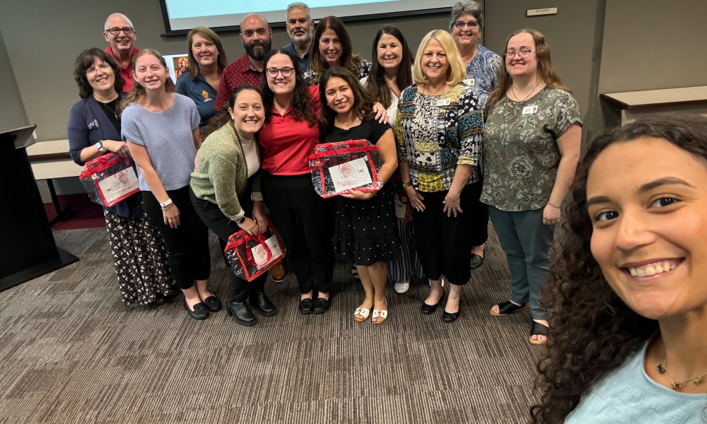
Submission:
<svg viewBox="0 0 707 424">
<path fill-rule="evenodd" d="M 308 87 L 315 114 L 320 114 L 319 86 Z M 258 141 L 265 149 L 260 167 L 272 175 L 303 175 L 310 172 L 309 155 L 321 143 L 319 125 L 310 128 L 302 119 L 297 122 L 292 107 L 281 115 L 272 108 L 272 119 L 258 132 Z"/>
</svg>

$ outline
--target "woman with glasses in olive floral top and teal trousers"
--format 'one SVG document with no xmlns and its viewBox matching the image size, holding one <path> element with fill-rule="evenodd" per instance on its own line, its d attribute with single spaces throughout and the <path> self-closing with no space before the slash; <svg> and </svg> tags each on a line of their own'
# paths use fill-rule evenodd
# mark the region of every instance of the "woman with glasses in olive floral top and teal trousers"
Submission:
<svg viewBox="0 0 707 424">
<path fill-rule="evenodd" d="M 579 105 L 563 86 L 541 33 L 524 29 L 506 42 L 505 62 L 486 102 L 484 191 L 510 267 L 510 301 L 491 315 L 527 310 L 530 343 L 547 338 L 548 312 L 538 302 L 549 275 L 549 251 L 560 205 L 580 155 Z"/>
</svg>

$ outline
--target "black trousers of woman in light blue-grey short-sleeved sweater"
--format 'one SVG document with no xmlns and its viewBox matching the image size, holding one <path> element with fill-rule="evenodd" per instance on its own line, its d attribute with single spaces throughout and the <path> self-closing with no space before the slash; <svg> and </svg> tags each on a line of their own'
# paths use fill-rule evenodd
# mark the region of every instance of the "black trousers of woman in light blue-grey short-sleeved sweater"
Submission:
<svg viewBox="0 0 707 424">
<path fill-rule="evenodd" d="M 208 280 L 211 273 L 209 257 L 209 229 L 201 222 L 192 201 L 189 186 L 168 190 L 173 204 L 179 208 L 180 225 L 170 228 L 160 208 L 160 202 L 152 192 L 142 192 L 142 201 L 147 216 L 150 217 L 165 239 L 170 252 L 170 269 L 177 286 L 186 290 L 194 285 L 194 280 Z"/>
</svg>

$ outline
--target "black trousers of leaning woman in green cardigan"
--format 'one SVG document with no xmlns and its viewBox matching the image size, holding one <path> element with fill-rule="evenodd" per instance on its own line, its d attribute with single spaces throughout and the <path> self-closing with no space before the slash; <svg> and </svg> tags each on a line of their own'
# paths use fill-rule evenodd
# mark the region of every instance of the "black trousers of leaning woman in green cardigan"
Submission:
<svg viewBox="0 0 707 424">
<path fill-rule="evenodd" d="M 238 197 L 240 207 L 243 208 L 245 216 L 248 218 L 252 218 L 253 216 L 253 201 L 250 200 L 251 193 L 252 177 L 248 179 L 243 195 Z M 223 250 L 223 248 L 226 247 L 226 243 L 228 243 L 228 237 L 234 232 L 240 231 L 240 227 L 237 223 L 230 220 L 228 216 L 223 215 L 223 212 L 221 212 L 217 204 L 213 204 L 208 200 L 199 199 L 194 192 L 192 192 L 191 187 L 189 187 L 189 197 L 192 199 L 192 204 L 194 204 L 194 209 L 197 211 L 199 218 L 204 221 L 204 224 L 209 227 L 209 230 L 213 231 L 218 236 L 218 241 Z M 245 302 L 252 293 L 263 293 L 266 280 L 267 272 L 262 273 L 250 283 L 231 272 L 230 278 L 228 279 L 228 295 L 226 295 L 226 301 Z"/>
</svg>

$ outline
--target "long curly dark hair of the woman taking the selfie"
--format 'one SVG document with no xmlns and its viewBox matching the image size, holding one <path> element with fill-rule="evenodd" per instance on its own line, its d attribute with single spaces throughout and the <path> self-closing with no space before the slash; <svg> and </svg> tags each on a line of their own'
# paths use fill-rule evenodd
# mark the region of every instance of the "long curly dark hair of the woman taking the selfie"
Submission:
<svg viewBox="0 0 707 424">
<path fill-rule="evenodd" d="M 548 306 L 556 312 L 550 319 L 547 353 L 537 364 L 536 387 L 542 397 L 530 408 L 532 423 L 563 423 L 583 394 L 658 331 L 658 321 L 633 312 L 604 278 L 590 249 L 592 222 L 586 208 L 587 178 L 597 156 L 614 143 L 643 137 L 664 139 L 707 160 L 707 118 L 699 115 L 642 119 L 608 129 L 590 144 L 566 209 L 566 238 L 551 269 Z"/>
</svg>

